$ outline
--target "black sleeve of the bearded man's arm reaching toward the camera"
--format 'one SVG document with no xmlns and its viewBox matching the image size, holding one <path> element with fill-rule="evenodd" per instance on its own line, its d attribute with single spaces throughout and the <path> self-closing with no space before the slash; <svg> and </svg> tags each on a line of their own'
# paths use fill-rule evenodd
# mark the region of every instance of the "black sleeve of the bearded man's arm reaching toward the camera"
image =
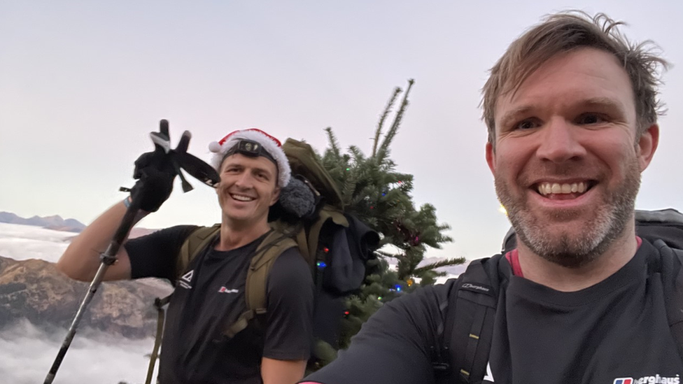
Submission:
<svg viewBox="0 0 683 384">
<path fill-rule="evenodd" d="M 434 383 L 433 348 L 440 348 L 439 304 L 450 285 L 416 290 L 384 305 L 337 360 L 304 379 L 322 384 Z"/>
</svg>

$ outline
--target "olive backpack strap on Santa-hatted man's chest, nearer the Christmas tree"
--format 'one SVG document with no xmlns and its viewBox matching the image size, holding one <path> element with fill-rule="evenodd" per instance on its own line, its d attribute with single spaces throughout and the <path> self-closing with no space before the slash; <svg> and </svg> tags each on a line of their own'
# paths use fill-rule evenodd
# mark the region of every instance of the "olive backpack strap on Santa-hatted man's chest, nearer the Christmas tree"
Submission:
<svg viewBox="0 0 683 384">
<path fill-rule="evenodd" d="M 297 246 L 296 241 L 281 232 L 271 231 L 268 236 L 256 248 L 256 253 L 251 258 L 249 269 L 246 273 L 244 285 L 244 299 L 246 311 L 239 318 L 224 328 L 223 334 L 234 337 L 242 329 L 245 329 L 250 320 L 257 315 L 267 313 L 267 285 L 268 274 L 275 264 L 275 260 L 289 248 Z"/>
</svg>

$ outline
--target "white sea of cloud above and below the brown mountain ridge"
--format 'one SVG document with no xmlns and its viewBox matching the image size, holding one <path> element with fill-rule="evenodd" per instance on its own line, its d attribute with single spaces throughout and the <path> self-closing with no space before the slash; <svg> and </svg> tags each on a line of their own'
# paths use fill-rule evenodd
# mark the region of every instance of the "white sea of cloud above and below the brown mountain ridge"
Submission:
<svg viewBox="0 0 683 384">
<path fill-rule="evenodd" d="M 56 262 L 76 234 L 0 223 L 0 256 Z M 0 331 L 0 383 L 43 383 L 66 329 L 38 329 L 28 321 Z M 79 329 L 55 384 L 144 383 L 153 339 L 129 340 Z"/>
</svg>

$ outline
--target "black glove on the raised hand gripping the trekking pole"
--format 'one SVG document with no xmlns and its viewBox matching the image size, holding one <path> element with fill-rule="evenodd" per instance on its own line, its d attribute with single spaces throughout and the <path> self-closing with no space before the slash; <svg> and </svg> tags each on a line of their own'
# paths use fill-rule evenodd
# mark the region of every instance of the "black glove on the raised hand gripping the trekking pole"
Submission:
<svg viewBox="0 0 683 384">
<path fill-rule="evenodd" d="M 156 212 L 171 195 L 177 174 L 171 155 L 160 146 L 143 153 L 135 160 L 133 178 L 138 181 L 130 190 L 132 204 L 143 211 Z"/>
</svg>

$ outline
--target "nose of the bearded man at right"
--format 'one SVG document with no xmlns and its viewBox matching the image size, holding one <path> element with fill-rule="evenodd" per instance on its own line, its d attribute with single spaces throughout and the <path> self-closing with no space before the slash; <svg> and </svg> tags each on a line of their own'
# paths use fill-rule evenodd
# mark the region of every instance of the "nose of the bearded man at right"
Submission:
<svg viewBox="0 0 683 384">
<path fill-rule="evenodd" d="M 578 134 L 577 127 L 563 118 L 551 119 L 540 135 L 537 156 L 555 163 L 584 156 L 586 148 L 579 142 Z"/>
</svg>

